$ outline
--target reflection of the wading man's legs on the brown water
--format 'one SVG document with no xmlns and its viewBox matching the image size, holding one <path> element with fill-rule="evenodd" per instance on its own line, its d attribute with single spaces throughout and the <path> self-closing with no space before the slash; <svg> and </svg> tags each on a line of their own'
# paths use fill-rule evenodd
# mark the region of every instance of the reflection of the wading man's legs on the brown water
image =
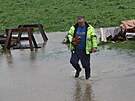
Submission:
<svg viewBox="0 0 135 101">
<path fill-rule="evenodd" d="M 94 101 L 90 83 L 77 79 L 74 91 L 74 101 Z"/>
</svg>

